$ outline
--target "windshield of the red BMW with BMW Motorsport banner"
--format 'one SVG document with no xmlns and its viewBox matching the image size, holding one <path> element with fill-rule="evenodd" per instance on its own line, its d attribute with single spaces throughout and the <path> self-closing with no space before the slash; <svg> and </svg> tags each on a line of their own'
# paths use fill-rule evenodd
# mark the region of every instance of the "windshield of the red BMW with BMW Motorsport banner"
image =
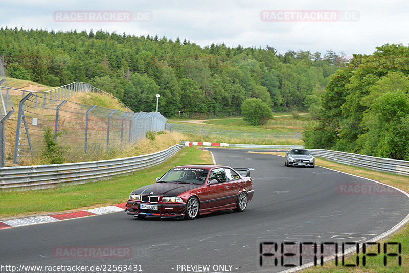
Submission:
<svg viewBox="0 0 409 273">
<path fill-rule="evenodd" d="M 169 170 L 158 182 L 202 184 L 209 173 L 207 169 L 178 167 Z"/>
</svg>

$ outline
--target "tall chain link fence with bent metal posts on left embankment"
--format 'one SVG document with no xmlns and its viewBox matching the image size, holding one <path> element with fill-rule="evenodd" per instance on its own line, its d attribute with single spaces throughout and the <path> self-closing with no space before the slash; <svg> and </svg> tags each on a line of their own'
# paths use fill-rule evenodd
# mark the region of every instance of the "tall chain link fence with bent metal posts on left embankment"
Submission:
<svg viewBox="0 0 409 273">
<path fill-rule="evenodd" d="M 60 145 L 69 147 L 67 154 L 74 159 L 128 146 L 148 130 L 164 130 L 167 120 L 158 112 L 133 113 L 58 98 L 61 94 L 30 92 L 19 102 L 14 163 L 41 154 L 47 128 Z"/>
</svg>

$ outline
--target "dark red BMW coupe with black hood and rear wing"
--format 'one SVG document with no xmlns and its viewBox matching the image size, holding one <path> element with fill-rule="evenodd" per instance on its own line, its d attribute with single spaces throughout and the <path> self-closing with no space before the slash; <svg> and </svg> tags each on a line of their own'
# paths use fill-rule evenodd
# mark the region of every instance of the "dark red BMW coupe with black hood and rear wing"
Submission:
<svg viewBox="0 0 409 273">
<path fill-rule="evenodd" d="M 249 175 L 248 168 L 177 166 L 156 178 L 156 183 L 134 190 L 125 212 L 137 218 L 186 219 L 218 210 L 242 212 L 254 193 Z"/>
</svg>

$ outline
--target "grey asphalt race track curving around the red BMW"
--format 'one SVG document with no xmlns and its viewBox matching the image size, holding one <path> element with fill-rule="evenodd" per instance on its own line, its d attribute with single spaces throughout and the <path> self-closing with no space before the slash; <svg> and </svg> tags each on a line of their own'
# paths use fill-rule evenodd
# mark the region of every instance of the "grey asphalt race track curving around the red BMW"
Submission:
<svg viewBox="0 0 409 273">
<path fill-rule="evenodd" d="M 143 272 L 192 272 L 203 269 L 181 270 L 180 265 L 202 264 L 209 265 L 206 271 L 210 272 L 278 272 L 288 268 L 259 266 L 260 241 L 365 242 L 390 230 L 409 213 L 409 198 L 400 192 L 339 191 L 345 183 L 373 184 L 366 179 L 321 167 L 287 168 L 282 157 L 246 149 L 208 150 L 217 164 L 254 169 L 255 193 L 244 212 L 215 212 L 193 221 L 136 219 L 118 212 L 3 229 L 0 265 L 134 264 Z M 56 253 L 70 247 L 130 247 L 131 255 L 84 259 L 61 258 Z M 134 269 L 122 272 L 137 272 Z"/>
</svg>

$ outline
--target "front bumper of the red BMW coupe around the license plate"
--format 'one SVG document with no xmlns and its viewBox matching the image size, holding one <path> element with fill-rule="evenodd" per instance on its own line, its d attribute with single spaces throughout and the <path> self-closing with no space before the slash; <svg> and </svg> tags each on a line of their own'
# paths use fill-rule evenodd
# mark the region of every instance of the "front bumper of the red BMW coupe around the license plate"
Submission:
<svg viewBox="0 0 409 273">
<path fill-rule="evenodd" d="M 147 210 L 141 209 L 140 204 L 151 204 L 157 205 L 157 210 Z M 126 202 L 127 209 L 125 212 L 129 215 L 148 215 L 148 216 L 158 216 L 161 218 L 184 218 L 186 202 L 182 203 L 145 203 L 138 201 Z"/>
</svg>

